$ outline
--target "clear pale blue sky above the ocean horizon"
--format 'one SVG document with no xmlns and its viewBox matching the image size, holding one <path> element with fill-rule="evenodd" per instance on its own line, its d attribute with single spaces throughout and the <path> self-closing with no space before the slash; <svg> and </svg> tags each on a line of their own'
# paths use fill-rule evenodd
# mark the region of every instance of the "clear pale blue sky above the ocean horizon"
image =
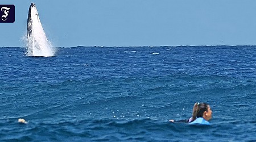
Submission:
<svg viewBox="0 0 256 142">
<path fill-rule="evenodd" d="M 1 0 L 15 23 L 0 23 L 0 47 L 24 47 L 31 2 L 55 47 L 256 45 L 254 0 Z"/>
</svg>

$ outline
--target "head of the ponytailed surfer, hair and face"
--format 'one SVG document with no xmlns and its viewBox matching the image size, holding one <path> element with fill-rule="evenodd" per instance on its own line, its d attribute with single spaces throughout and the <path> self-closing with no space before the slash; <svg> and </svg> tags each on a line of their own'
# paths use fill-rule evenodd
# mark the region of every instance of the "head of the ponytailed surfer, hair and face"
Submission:
<svg viewBox="0 0 256 142">
<path fill-rule="evenodd" d="M 204 118 L 205 120 L 212 118 L 212 110 L 207 103 L 195 103 L 192 112 L 192 120 L 196 118 Z"/>
</svg>

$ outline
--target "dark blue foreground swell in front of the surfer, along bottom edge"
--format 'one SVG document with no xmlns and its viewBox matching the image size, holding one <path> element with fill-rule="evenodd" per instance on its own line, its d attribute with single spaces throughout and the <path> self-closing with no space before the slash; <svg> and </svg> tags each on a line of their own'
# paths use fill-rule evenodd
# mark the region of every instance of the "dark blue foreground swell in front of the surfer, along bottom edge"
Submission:
<svg viewBox="0 0 256 142">
<path fill-rule="evenodd" d="M 255 122 L 223 122 L 213 123 L 211 126 L 193 126 L 182 123 L 162 122 L 151 119 L 63 119 L 59 123 L 33 122 L 19 124 L 16 122 L 1 123 L 1 140 L 90 140 L 90 141 L 169 141 L 180 140 L 211 140 L 243 141 L 254 140 L 254 136 L 247 135 L 255 130 Z M 8 128 L 6 128 L 8 124 Z M 246 125 L 247 127 L 241 127 Z M 227 131 L 229 130 L 229 131 Z M 9 136 L 10 132 L 16 132 Z M 230 133 L 231 132 L 231 133 Z M 52 135 L 54 134 L 54 135 Z M 7 137 L 9 136 L 9 137 Z"/>
</svg>

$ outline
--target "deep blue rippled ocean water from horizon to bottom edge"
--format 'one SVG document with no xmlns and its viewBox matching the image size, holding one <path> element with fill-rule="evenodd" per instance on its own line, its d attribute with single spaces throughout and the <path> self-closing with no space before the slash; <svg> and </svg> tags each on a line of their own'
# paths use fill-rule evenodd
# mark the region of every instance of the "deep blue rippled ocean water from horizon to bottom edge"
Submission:
<svg viewBox="0 0 256 142">
<path fill-rule="evenodd" d="M 256 141 L 256 46 L 0 54 L 0 141 Z M 168 122 L 195 102 L 211 126 Z"/>
</svg>

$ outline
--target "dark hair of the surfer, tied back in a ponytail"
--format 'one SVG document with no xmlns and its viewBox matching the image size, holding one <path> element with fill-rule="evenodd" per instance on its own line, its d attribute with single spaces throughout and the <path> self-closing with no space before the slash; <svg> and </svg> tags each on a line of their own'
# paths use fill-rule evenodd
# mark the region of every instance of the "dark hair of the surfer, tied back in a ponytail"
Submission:
<svg viewBox="0 0 256 142">
<path fill-rule="evenodd" d="M 208 111 L 208 103 L 195 103 L 192 112 L 192 121 L 196 118 L 202 118 L 204 111 Z"/>
</svg>

